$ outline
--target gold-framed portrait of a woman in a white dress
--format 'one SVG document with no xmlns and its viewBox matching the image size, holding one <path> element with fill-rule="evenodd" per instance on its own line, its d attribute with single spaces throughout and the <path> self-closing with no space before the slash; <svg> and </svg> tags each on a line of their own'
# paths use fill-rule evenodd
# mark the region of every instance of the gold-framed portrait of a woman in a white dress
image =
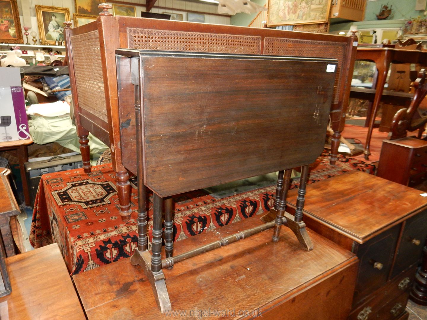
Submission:
<svg viewBox="0 0 427 320">
<path fill-rule="evenodd" d="M 64 22 L 70 21 L 70 9 L 36 5 L 35 15 L 42 44 L 65 41 Z"/>
</svg>

